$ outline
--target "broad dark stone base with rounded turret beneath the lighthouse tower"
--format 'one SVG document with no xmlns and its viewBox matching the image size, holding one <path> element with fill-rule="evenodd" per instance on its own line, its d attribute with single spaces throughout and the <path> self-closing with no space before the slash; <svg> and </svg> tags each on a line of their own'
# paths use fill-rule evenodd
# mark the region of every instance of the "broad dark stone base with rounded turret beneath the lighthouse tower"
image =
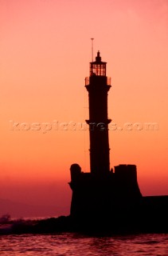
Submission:
<svg viewBox="0 0 168 256">
<path fill-rule="evenodd" d="M 142 194 L 135 165 L 115 166 L 115 172 L 94 175 L 71 166 L 72 218 L 112 218 L 139 204 Z"/>
</svg>

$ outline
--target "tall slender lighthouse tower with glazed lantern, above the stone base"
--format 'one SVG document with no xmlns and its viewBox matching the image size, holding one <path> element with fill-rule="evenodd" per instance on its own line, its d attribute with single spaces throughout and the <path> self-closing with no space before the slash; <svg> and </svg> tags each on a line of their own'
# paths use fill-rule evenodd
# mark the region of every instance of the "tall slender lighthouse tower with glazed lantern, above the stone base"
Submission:
<svg viewBox="0 0 168 256">
<path fill-rule="evenodd" d="M 110 171 L 107 92 L 111 87 L 111 78 L 106 76 L 106 62 L 101 61 L 100 52 L 97 52 L 96 61 L 90 62 L 90 76 L 85 78 L 85 87 L 88 90 L 90 134 L 90 166 L 91 173 L 96 175 L 107 174 Z"/>
</svg>

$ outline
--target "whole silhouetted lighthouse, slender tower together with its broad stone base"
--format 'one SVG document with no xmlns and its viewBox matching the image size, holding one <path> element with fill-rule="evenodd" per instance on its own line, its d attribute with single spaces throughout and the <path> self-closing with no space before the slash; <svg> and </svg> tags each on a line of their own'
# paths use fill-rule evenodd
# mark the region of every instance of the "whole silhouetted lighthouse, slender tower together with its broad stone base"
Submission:
<svg viewBox="0 0 168 256">
<path fill-rule="evenodd" d="M 107 62 L 103 62 L 100 51 L 96 60 L 90 62 L 89 77 L 85 78 L 88 90 L 90 137 L 90 172 L 84 173 L 74 163 L 70 167 L 72 218 L 111 218 L 127 207 L 135 205 L 142 198 L 137 182 L 135 165 L 121 164 L 110 168 L 110 148 L 107 115 L 107 94 L 111 78 L 107 77 Z"/>
</svg>

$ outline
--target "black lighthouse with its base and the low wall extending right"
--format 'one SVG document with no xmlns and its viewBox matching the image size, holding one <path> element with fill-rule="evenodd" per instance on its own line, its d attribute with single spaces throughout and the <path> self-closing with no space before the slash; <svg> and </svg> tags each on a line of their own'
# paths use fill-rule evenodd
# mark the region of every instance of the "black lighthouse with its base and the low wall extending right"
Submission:
<svg viewBox="0 0 168 256">
<path fill-rule="evenodd" d="M 89 63 L 89 77 L 85 78 L 90 170 L 83 172 L 77 163 L 70 167 L 71 181 L 68 184 L 72 201 L 69 219 L 72 230 L 91 230 L 93 234 L 100 231 L 105 234 L 108 231 L 112 234 L 136 233 L 137 230 L 153 233 L 155 225 L 155 230 L 162 232 L 167 230 L 168 196 L 143 197 L 135 164 L 122 163 L 114 166 L 114 172 L 110 170 L 108 125 L 111 119 L 107 114 L 107 94 L 111 78 L 107 78 L 106 67 L 107 62 L 101 60 L 98 51 L 95 61 L 92 58 Z"/>
</svg>

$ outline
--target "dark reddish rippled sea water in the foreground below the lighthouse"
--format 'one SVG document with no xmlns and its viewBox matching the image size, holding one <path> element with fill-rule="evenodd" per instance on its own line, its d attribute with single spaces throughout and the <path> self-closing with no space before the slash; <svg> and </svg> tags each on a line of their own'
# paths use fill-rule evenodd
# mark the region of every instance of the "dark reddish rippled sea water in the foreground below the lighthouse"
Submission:
<svg viewBox="0 0 168 256">
<path fill-rule="evenodd" d="M 3 235 L 1 256 L 168 255 L 168 234 L 88 237 L 80 234 Z"/>
</svg>

